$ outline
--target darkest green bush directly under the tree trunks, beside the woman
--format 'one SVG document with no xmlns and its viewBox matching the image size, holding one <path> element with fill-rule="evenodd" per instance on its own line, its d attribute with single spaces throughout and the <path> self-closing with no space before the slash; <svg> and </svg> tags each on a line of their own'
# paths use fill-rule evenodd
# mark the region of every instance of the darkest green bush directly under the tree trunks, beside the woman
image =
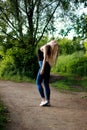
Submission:
<svg viewBox="0 0 87 130">
<path fill-rule="evenodd" d="M 29 46 L 29 48 L 18 48 L 13 53 L 16 69 L 20 75 L 35 78 L 38 69 L 37 57 L 35 54 L 35 48 Z"/>
</svg>

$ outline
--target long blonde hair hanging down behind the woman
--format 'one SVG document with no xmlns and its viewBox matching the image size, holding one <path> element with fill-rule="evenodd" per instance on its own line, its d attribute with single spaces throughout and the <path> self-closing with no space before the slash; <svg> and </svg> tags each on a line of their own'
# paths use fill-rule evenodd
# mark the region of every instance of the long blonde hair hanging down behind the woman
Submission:
<svg viewBox="0 0 87 130">
<path fill-rule="evenodd" d="M 47 61 L 49 62 L 51 66 L 53 66 L 55 65 L 57 57 L 58 57 L 59 45 L 56 43 L 54 45 L 48 44 L 47 46 L 48 46 Z"/>
</svg>

